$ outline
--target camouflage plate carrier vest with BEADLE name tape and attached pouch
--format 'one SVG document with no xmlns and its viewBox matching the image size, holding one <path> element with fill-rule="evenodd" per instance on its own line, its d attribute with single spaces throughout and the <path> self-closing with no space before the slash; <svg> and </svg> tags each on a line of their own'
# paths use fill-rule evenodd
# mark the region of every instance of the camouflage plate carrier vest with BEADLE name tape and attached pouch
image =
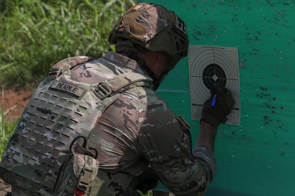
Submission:
<svg viewBox="0 0 295 196">
<path fill-rule="evenodd" d="M 99 117 L 120 92 L 136 86 L 152 88 L 152 79 L 139 73 L 95 84 L 70 79 L 71 68 L 93 60 L 66 58 L 50 69 L 10 138 L 0 164 L 4 182 L 28 195 L 131 194 L 134 177 L 99 170 L 97 150 L 86 144 Z"/>
</svg>

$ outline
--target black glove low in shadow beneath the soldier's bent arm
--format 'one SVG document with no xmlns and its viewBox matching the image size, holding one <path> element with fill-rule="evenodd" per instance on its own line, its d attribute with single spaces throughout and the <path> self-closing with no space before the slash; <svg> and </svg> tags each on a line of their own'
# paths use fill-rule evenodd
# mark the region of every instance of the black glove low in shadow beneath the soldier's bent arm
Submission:
<svg viewBox="0 0 295 196">
<path fill-rule="evenodd" d="M 140 190 L 142 194 L 147 194 L 149 190 L 154 189 L 158 185 L 158 175 L 151 168 L 147 167 L 142 174 L 138 176 L 137 185 L 134 190 Z"/>
</svg>

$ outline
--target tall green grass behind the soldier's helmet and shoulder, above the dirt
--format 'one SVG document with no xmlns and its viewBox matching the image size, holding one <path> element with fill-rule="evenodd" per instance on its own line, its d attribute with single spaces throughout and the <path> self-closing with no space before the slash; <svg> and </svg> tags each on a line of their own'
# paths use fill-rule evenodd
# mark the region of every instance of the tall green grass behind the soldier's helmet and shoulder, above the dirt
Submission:
<svg viewBox="0 0 295 196">
<path fill-rule="evenodd" d="M 114 50 L 108 34 L 135 0 L 0 0 L 0 81 L 32 86 L 70 56 Z"/>
</svg>

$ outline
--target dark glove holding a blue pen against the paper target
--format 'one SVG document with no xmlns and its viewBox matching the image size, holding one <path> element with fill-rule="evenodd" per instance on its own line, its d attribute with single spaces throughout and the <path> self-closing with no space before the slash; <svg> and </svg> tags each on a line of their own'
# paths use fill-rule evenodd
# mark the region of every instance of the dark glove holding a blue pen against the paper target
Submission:
<svg viewBox="0 0 295 196">
<path fill-rule="evenodd" d="M 223 86 L 212 86 L 210 93 L 210 98 L 204 103 L 201 120 L 217 128 L 220 123 L 227 121 L 226 116 L 232 111 L 235 100 L 232 98 L 232 92 Z M 216 103 L 211 106 L 215 95 Z"/>
</svg>

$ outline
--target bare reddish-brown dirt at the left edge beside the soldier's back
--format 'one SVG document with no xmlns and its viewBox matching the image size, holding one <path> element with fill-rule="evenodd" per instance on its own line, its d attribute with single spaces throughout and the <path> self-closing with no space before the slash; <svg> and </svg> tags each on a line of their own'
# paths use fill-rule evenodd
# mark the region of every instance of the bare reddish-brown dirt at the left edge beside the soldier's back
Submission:
<svg viewBox="0 0 295 196">
<path fill-rule="evenodd" d="M 2 91 L 0 91 L 2 92 Z M 20 88 L 4 88 L 4 96 L 0 93 L 0 107 L 4 104 L 4 122 L 15 122 L 29 102 L 33 92 L 27 89 Z M 4 101 L 3 101 L 4 100 Z M 0 196 L 6 195 L 10 192 L 11 187 L 3 183 L 0 179 Z"/>
</svg>

